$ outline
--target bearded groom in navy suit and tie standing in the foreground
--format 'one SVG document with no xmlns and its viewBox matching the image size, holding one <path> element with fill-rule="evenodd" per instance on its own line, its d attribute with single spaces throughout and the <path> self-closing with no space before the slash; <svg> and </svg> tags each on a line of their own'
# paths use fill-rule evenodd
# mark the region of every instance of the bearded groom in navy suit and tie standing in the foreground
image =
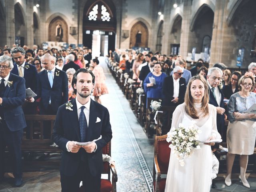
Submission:
<svg viewBox="0 0 256 192">
<path fill-rule="evenodd" d="M 86 191 L 100 192 L 102 148 L 111 140 L 112 130 L 107 108 L 90 98 L 93 86 L 91 71 L 76 71 L 72 80 L 76 98 L 60 106 L 57 112 L 52 139 L 63 150 L 62 192 L 78 191 L 80 181 Z M 96 141 L 87 146 L 76 144 L 93 140 Z"/>
</svg>

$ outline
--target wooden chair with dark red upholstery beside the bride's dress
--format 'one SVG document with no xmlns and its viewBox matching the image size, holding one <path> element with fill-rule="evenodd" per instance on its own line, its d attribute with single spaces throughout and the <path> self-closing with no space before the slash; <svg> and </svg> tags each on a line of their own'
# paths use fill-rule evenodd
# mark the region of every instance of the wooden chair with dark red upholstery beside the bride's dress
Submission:
<svg viewBox="0 0 256 192">
<path fill-rule="evenodd" d="M 156 136 L 154 142 L 153 192 L 164 192 L 170 160 L 170 143 L 166 141 L 167 135 Z"/>
</svg>

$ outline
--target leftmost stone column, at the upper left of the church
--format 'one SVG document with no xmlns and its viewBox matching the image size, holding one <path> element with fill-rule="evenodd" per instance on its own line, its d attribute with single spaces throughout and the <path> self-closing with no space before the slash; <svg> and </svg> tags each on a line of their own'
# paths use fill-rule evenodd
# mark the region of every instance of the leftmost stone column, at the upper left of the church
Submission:
<svg viewBox="0 0 256 192">
<path fill-rule="evenodd" d="M 14 0 L 5 0 L 6 11 L 6 44 L 10 47 L 15 42 L 15 24 L 14 24 Z"/>
</svg>

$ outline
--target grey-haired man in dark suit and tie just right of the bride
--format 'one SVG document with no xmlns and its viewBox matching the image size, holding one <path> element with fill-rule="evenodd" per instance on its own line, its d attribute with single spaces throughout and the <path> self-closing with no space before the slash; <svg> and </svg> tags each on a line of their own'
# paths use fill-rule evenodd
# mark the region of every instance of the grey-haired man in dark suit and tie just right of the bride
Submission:
<svg viewBox="0 0 256 192">
<path fill-rule="evenodd" d="M 207 74 L 207 82 L 209 85 L 209 103 L 216 106 L 217 110 L 217 129 L 222 136 L 224 132 L 225 120 L 224 120 L 224 94 L 220 88 L 220 82 L 222 78 L 222 70 L 217 67 L 210 68 Z"/>
</svg>

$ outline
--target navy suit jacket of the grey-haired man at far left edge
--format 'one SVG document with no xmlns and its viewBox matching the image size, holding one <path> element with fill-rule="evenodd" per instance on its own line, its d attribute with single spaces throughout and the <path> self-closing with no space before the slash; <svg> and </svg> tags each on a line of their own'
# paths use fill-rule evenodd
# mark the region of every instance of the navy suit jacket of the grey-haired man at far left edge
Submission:
<svg viewBox="0 0 256 192">
<path fill-rule="evenodd" d="M 26 127 L 22 104 L 26 96 L 25 79 L 10 73 L 9 82 L 6 85 L 0 110 L 4 111 L 4 119 L 11 131 L 18 131 Z"/>
</svg>

